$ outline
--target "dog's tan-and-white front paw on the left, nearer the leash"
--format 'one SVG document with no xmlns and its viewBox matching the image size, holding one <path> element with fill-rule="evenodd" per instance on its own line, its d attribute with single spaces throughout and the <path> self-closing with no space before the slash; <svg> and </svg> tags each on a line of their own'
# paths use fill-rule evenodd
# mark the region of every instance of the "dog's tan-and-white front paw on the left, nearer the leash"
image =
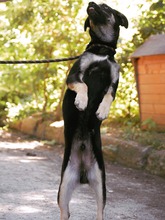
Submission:
<svg viewBox="0 0 165 220">
<path fill-rule="evenodd" d="M 68 88 L 77 93 L 74 104 L 80 111 L 83 111 L 88 104 L 87 85 L 83 82 L 75 82 L 68 84 Z"/>
</svg>

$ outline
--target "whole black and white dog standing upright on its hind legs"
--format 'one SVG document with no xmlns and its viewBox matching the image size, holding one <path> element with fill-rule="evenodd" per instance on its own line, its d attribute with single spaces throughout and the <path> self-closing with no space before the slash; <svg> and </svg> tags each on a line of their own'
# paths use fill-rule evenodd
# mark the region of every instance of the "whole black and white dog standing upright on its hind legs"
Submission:
<svg viewBox="0 0 165 220">
<path fill-rule="evenodd" d="M 95 191 L 97 220 L 103 219 L 106 186 L 100 126 L 118 86 L 119 65 L 114 55 L 119 26 L 128 27 L 127 18 L 106 4 L 90 2 L 87 13 L 84 28 L 89 28 L 91 41 L 70 70 L 63 100 L 65 152 L 58 192 L 61 220 L 69 218 L 69 201 L 79 184 L 89 184 Z"/>
</svg>

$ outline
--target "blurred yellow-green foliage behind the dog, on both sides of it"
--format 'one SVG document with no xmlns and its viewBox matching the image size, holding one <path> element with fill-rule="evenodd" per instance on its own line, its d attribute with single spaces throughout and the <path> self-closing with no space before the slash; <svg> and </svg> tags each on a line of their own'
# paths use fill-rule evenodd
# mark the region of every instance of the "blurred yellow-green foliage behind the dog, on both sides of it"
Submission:
<svg viewBox="0 0 165 220">
<path fill-rule="evenodd" d="M 148 0 L 150 9 L 134 20 L 131 41 L 120 38 L 116 59 L 121 77 L 110 120 L 138 120 L 138 98 L 131 53 L 151 34 L 163 33 L 165 3 Z M 1 3 L 0 3 L 1 4 Z M 1 4 L 2 5 L 2 4 Z M 83 32 L 83 0 L 13 0 L 0 13 L 0 60 L 35 60 L 81 54 L 89 36 Z M 142 5 L 139 5 L 139 10 Z M 72 62 L 1 65 L 0 125 L 36 112 L 61 118 L 65 78 Z"/>
</svg>

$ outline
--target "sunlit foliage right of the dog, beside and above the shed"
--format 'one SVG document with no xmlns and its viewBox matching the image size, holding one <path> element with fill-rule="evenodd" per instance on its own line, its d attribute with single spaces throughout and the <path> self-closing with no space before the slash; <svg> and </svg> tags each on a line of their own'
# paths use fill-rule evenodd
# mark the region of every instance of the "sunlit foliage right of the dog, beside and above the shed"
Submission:
<svg viewBox="0 0 165 220">
<path fill-rule="evenodd" d="M 165 2 L 163 0 L 156 3 L 153 0 L 148 1 L 151 4 L 149 10 L 142 11 L 140 17 L 133 20 L 136 32 L 131 41 L 119 43 L 122 56 L 118 55 L 117 60 L 121 66 L 121 77 L 115 105 L 111 110 L 113 112 L 111 118 L 119 116 L 118 118 L 122 121 L 138 116 L 138 97 L 130 56 L 150 35 L 165 32 Z M 139 5 L 139 9 L 141 7 L 142 5 Z"/>
</svg>

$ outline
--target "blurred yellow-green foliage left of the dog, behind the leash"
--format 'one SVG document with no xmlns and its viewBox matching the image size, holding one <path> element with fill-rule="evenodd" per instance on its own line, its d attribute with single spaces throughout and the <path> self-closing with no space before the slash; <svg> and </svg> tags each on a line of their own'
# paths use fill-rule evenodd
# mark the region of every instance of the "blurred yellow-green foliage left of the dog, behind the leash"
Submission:
<svg viewBox="0 0 165 220">
<path fill-rule="evenodd" d="M 6 3 L 0 24 L 0 59 L 35 60 L 80 54 L 86 44 L 83 31 L 77 32 L 83 27 L 83 20 L 76 19 L 81 5 L 82 0 Z M 2 66 L 0 90 L 2 94 L 5 88 L 6 107 L 22 103 L 20 108 L 26 107 L 29 114 L 53 111 L 70 65 L 71 62 Z"/>
</svg>

